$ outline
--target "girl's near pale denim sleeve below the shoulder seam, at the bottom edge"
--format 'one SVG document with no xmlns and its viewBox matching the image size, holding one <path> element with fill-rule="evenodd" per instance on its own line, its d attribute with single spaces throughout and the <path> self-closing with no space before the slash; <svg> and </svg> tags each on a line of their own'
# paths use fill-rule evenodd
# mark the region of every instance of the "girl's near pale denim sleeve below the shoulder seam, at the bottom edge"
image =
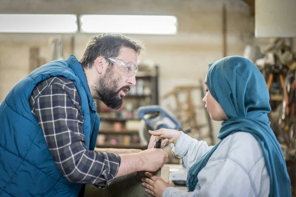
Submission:
<svg viewBox="0 0 296 197">
<path fill-rule="evenodd" d="M 254 184 L 241 165 L 230 158 L 209 160 L 199 172 L 193 192 L 167 188 L 163 197 L 254 197 Z"/>
</svg>

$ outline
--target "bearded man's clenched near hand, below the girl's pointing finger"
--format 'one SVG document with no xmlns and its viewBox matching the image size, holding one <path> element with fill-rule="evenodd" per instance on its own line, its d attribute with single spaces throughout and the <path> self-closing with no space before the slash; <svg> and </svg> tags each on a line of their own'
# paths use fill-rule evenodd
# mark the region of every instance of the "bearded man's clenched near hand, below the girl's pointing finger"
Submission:
<svg viewBox="0 0 296 197">
<path fill-rule="evenodd" d="M 162 149 L 148 149 L 138 154 L 143 162 L 141 171 L 154 172 L 161 168 L 168 158 L 168 154 Z"/>
</svg>

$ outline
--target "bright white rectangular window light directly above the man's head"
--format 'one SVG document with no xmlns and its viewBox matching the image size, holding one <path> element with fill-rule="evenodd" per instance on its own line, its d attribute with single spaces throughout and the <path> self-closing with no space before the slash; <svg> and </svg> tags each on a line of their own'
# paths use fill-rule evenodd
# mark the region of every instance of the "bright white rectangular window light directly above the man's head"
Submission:
<svg viewBox="0 0 296 197">
<path fill-rule="evenodd" d="M 84 33 L 177 34 L 175 16 L 81 15 L 80 24 Z"/>
</svg>

